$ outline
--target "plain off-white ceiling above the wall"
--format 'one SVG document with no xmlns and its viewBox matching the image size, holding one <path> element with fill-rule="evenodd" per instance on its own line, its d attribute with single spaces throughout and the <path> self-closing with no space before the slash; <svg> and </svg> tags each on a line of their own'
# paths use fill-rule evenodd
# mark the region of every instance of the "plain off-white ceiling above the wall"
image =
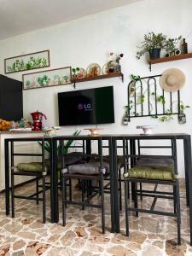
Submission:
<svg viewBox="0 0 192 256">
<path fill-rule="evenodd" d="M 141 0 L 0 0 L 0 40 Z"/>
</svg>

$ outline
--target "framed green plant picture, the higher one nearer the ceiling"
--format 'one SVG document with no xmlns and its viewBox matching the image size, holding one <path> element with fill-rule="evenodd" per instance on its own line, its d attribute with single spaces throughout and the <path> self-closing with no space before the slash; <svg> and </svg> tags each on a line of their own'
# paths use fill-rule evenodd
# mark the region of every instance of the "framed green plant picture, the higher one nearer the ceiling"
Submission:
<svg viewBox="0 0 192 256">
<path fill-rule="evenodd" d="M 49 66 L 49 49 L 4 59 L 4 73 L 15 73 Z"/>
</svg>

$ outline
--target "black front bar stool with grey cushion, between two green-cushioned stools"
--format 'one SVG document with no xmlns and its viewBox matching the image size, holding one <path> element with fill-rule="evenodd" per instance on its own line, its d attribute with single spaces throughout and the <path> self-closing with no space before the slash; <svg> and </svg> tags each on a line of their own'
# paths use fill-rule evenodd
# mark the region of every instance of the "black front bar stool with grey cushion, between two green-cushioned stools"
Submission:
<svg viewBox="0 0 192 256">
<path fill-rule="evenodd" d="M 62 223 L 63 226 L 66 225 L 66 207 L 67 204 L 84 207 L 96 207 L 102 210 L 102 233 L 105 233 L 105 205 L 104 205 L 104 177 L 108 176 L 109 165 L 102 160 L 102 138 L 99 138 L 99 162 L 88 162 L 84 164 L 77 164 L 72 166 L 67 166 L 62 169 L 61 173 L 61 188 L 62 188 Z M 82 185 L 82 201 L 67 201 L 66 196 L 66 180 L 70 179 L 80 179 L 83 183 Z M 84 198 L 84 184 L 89 181 L 98 181 L 100 190 L 93 191 L 93 193 L 87 194 L 87 198 Z M 101 196 L 100 204 L 91 204 L 90 200 L 96 195 Z"/>
</svg>

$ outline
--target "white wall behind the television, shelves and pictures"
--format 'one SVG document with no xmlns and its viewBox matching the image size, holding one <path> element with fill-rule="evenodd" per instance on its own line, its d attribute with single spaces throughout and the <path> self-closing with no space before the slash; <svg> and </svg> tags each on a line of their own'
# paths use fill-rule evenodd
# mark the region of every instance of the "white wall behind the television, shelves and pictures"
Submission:
<svg viewBox="0 0 192 256">
<path fill-rule="evenodd" d="M 155 75 L 167 68 L 177 67 L 186 74 L 186 84 L 181 90 L 182 100 L 191 104 L 192 59 L 172 61 L 154 65 L 152 72 L 148 70 L 145 58 L 136 58 L 137 45 L 143 40 L 144 33 L 163 32 L 170 37 L 183 35 L 192 51 L 192 1 L 191 0 L 145 0 L 131 3 L 117 9 L 111 9 L 96 15 L 86 16 L 79 20 L 62 23 L 42 30 L 29 32 L 15 38 L 0 41 L 0 72 L 3 73 L 3 59 L 14 55 L 27 54 L 39 50 L 50 50 L 51 68 L 84 67 L 91 62 L 101 65 L 109 61 L 109 52 L 124 53 L 121 60 L 122 71 L 125 74 L 124 84 L 119 78 L 77 84 L 76 90 L 99 86 L 114 86 L 115 124 L 99 125 L 105 133 L 137 133 L 137 125 L 157 125 L 154 132 L 186 132 L 192 134 L 191 108 L 187 113 L 187 123 L 179 125 L 177 117 L 171 122 L 160 123 L 150 118 L 131 119 L 128 126 L 121 125 L 124 106 L 127 104 L 127 84 L 130 73 L 140 76 Z M 187 38 L 187 36 L 189 37 Z M 10 74 L 9 77 L 21 80 L 22 73 Z M 57 92 L 74 90 L 72 85 L 62 85 L 38 90 L 24 90 L 24 114 L 39 110 L 45 113 L 48 120 L 44 125 L 58 125 Z M 90 125 L 89 125 L 90 126 Z M 61 133 L 72 134 L 75 129 L 84 126 L 65 127 Z M 86 131 L 82 131 L 86 134 Z M 178 152 L 179 172 L 183 176 L 183 157 Z"/>
</svg>

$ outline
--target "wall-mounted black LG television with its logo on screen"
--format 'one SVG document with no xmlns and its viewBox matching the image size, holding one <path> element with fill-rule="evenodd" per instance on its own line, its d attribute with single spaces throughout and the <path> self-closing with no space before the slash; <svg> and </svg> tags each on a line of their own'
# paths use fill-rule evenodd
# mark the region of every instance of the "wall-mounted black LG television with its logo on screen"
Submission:
<svg viewBox="0 0 192 256">
<path fill-rule="evenodd" d="M 59 125 L 114 123 L 113 86 L 58 93 Z"/>
</svg>

